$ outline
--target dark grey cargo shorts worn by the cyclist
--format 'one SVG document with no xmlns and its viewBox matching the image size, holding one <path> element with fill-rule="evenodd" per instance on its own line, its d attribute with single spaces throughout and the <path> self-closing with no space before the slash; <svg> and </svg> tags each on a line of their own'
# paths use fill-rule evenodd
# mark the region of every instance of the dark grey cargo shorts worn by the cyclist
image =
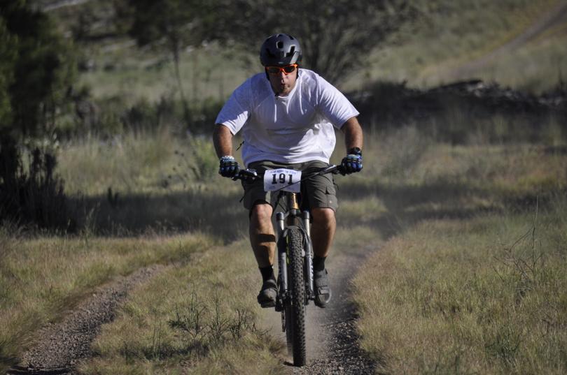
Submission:
<svg viewBox="0 0 567 375">
<path fill-rule="evenodd" d="M 305 175 L 327 166 L 329 166 L 328 163 L 323 161 L 307 161 L 306 163 L 296 164 L 255 161 L 250 163 L 248 168 L 255 169 L 259 174 L 268 169 L 290 168 L 301 170 L 303 178 Z M 270 203 L 272 207 L 276 207 L 279 193 L 264 191 L 262 179 L 255 182 L 242 181 L 242 186 L 244 187 L 243 201 L 246 209 L 252 209 L 253 205 L 258 203 Z M 330 208 L 337 211 L 339 205 L 335 186 L 335 181 L 330 173 L 314 176 L 303 181 L 301 183 L 301 209 Z M 280 202 L 280 204 L 282 203 Z"/>
</svg>

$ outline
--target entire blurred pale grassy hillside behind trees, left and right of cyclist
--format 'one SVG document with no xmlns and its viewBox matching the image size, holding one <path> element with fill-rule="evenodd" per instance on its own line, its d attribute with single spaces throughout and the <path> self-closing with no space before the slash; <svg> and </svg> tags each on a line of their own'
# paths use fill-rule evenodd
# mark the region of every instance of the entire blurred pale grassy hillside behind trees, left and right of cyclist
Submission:
<svg viewBox="0 0 567 375">
<path fill-rule="evenodd" d="M 172 61 L 140 50 L 121 29 L 119 1 L 36 1 L 80 47 L 81 82 L 97 98 L 156 101 L 174 90 Z M 267 2 L 269 3 L 269 2 Z M 532 93 L 548 91 L 567 71 L 567 1 L 415 1 L 419 13 L 373 50 L 365 66 L 345 72 L 343 89 L 376 80 L 432 87 L 479 78 Z M 246 15 L 242 15 L 246 17 Z M 378 41 L 380 42 L 380 41 Z M 259 70 L 259 39 L 247 51 L 216 43 L 183 51 L 181 76 L 190 98 L 223 99 Z M 305 51 L 309 56 L 309 51 Z"/>
</svg>

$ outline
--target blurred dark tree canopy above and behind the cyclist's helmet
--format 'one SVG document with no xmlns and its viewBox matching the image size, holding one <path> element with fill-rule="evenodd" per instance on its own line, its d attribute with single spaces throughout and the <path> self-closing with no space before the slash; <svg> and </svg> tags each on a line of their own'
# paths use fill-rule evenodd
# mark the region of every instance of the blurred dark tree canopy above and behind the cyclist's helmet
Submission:
<svg viewBox="0 0 567 375">
<path fill-rule="evenodd" d="M 363 66 L 393 31 L 416 17 L 416 7 L 408 0 L 304 0 L 285 5 L 276 0 L 116 1 L 118 22 L 129 20 L 138 45 L 165 47 L 171 54 L 183 103 L 179 61 L 185 47 L 219 41 L 248 52 L 256 63 L 263 39 L 283 31 L 302 43 L 303 66 L 339 83 Z"/>
</svg>

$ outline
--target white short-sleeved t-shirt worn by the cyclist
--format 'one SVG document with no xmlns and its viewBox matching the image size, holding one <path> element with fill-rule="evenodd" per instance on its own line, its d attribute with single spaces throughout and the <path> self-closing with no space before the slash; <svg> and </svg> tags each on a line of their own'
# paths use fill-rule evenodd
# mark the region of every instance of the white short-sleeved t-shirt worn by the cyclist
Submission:
<svg viewBox="0 0 567 375">
<path fill-rule="evenodd" d="M 276 96 L 265 73 L 248 78 L 216 118 L 234 135 L 242 129 L 242 159 L 281 163 L 324 161 L 335 149 L 335 128 L 358 116 L 346 97 L 320 75 L 301 68 L 287 96 Z"/>
</svg>

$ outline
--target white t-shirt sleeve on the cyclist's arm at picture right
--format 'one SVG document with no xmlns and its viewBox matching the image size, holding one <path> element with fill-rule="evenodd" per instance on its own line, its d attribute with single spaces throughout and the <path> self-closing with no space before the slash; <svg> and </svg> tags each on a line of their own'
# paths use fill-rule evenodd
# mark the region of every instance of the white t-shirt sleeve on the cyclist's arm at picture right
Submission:
<svg viewBox="0 0 567 375">
<path fill-rule="evenodd" d="M 359 113 L 336 87 L 321 76 L 317 77 L 318 108 L 335 128 L 341 128 L 346 120 Z"/>
</svg>

